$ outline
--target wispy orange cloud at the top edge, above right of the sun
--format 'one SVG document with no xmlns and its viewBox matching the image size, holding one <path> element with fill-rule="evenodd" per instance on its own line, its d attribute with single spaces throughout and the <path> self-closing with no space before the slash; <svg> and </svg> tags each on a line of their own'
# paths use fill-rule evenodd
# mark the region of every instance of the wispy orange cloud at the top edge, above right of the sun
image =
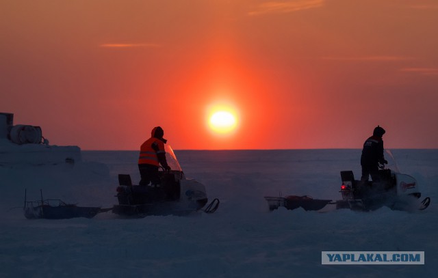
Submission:
<svg viewBox="0 0 438 278">
<path fill-rule="evenodd" d="M 294 1 L 268 1 L 257 5 L 254 10 L 248 12 L 250 16 L 261 14 L 287 14 L 300 10 L 319 8 L 325 0 L 294 0 Z"/>
</svg>

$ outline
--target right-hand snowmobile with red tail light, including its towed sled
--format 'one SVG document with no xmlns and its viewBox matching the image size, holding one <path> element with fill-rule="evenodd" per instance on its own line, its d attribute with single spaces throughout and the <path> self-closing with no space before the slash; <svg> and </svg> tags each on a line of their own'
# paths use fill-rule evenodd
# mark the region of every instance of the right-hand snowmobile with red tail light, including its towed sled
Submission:
<svg viewBox="0 0 438 278">
<path fill-rule="evenodd" d="M 265 197 L 270 210 L 281 206 L 288 210 L 320 210 L 322 212 L 349 208 L 350 210 L 370 211 L 387 206 L 392 210 L 425 210 L 430 204 L 430 197 L 420 197 L 422 193 L 417 181 L 412 176 L 385 169 L 379 166 L 378 180 L 355 180 L 352 171 L 341 171 L 342 185 L 339 193 L 342 199 L 313 199 L 310 196 L 289 195 L 286 197 Z"/>
</svg>

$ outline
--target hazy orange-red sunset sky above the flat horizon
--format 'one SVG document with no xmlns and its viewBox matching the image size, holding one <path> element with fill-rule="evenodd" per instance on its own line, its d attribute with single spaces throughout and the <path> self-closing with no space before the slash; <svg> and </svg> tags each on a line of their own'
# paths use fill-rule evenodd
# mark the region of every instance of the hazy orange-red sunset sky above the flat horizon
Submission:
<svg viewBox="0 0 438 278">
<path fill-rule="evenodd" d="M 438 148 L 434 0 L 0 0 L 0 112 L 56 145 Z M 239 127 L 211 133 L 207 107 Z"/>
</svg>

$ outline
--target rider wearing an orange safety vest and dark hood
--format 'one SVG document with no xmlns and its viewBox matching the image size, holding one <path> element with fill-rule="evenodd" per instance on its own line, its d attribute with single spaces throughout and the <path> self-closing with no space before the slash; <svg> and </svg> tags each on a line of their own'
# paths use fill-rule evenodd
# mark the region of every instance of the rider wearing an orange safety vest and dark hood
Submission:
<svg viewBox="0 0 438 278">
<path fill-rule="evenodd" d="M 138 156 L 138 169 L 140 170 L 140 185 L 148 185 L 151 182 L 153 185 L 160 183 L 158 176 L 158 167 L 162 167 L 169 171 L 170 167 L 166 161 L 166 151 L 164 144 L 167 142 L 163 138 L 164 130 L 160 126 L 152 129 L 151 138 L 142 143 L 140 147 L 140 156 Z"/>
</svg>

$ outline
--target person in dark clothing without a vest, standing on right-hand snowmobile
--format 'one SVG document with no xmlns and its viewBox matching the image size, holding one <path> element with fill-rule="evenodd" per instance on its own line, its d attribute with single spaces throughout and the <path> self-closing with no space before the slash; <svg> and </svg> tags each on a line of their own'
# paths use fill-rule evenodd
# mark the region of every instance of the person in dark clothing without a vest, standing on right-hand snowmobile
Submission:
<svg viewBox="0 0 438 278">
<path fill-rule="evenodd" d="M 372 137 L 366 139 L 363 143 L 363 150 L 361 156 L 362 177 L 361 181 L 368 181 L 368 176 L 371 175 L 372 180 L 375 182 L 379 180 L 378 176 L 378 164 L 387 164 L 383 156 L 383 135 L 385 130 L 381 126 L 374 128 Z"/>
</svg>

